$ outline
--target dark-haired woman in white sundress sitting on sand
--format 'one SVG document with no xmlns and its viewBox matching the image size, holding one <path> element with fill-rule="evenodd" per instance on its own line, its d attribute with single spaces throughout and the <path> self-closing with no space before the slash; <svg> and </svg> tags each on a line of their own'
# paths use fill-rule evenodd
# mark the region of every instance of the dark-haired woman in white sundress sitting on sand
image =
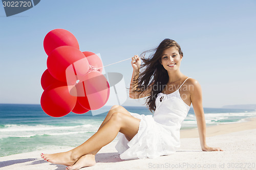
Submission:
<svg viewBox="0 0 256 170">
<path fill-rule="evenodd" d="M 86 142 L 68 152 L 41 154 L 51 163 L 79 169 L 95 164 L 96 153 L 118 135 L 116 145 L 121 159 L 155 158 L 175 153 L 180 147 L 180 126 L 191 103 L 197 118 L 202 151 L 222 151 L 206 144 L 206 126 L 200 84 L 180 72 L 183 53 L 179 44 L 164 39 L 151 51 L 155 53 L 141 65 L 138 56 L 132 57 L 133 76 L 130 98 L 146 98 L 152 115 L 131 113 L 122 106 L 113 106 L 99 130 Z M 146 67 L 140 72 L 140 68 Z M 151 82 L 150 82 L 151 81 Z M 119 133 L 120 132 L 120 133 Z"/>
</svg>

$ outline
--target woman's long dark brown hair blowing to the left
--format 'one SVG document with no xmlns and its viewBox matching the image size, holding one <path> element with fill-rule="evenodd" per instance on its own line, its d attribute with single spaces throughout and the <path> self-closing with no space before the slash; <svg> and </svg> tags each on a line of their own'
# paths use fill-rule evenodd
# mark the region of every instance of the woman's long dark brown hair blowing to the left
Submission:
<svg viewBox="0 0 256 170">
<path fill-rule="evenodd" d="M 172 39 L 164 39 L 158 47 L 145 51 L 140 54 L 141 60 L 144 62 L 141 64 L 137 79 L 137 89 L 133 92 L 139 92 L 139 95 L 143 93 L 148 88 L 151 88 L 151 94 L 146 98 L 146 106 L 153 113 L 156 110 L 156 98 L 157 94 L 163 91 L 164 86 L 168 82 L 168 73 L 166 69 L 161 65 L 161 57 L 163 51 L 169 47 L 176 46 L 180 56 L 183 57 L 183 52 L 181 51 L 180 45 Z M 155 53 L 154 53 L 155 52 Z M 151 53 L 148 58 L 145 58 L 147 53 Z M 150 86 L 154 82 L 154 85 Z"/>
</svg>

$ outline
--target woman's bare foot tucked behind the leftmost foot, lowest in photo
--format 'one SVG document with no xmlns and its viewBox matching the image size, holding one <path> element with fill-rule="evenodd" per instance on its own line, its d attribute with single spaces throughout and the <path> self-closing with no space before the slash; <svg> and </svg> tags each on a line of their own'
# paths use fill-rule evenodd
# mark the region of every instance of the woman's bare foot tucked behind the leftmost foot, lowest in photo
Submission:
<svg viewBox="0 0 256 170">
<path fill-rule="evenodd" d="M 83 155 L 82 157 L 80 157 L 74 165 L 68 166 L 66 169 L 77 170 L 82 167 L 93 166 L 95 164 L 96 164 L 95 155 L 88 154 L 88 155 Z"/>
</svg>

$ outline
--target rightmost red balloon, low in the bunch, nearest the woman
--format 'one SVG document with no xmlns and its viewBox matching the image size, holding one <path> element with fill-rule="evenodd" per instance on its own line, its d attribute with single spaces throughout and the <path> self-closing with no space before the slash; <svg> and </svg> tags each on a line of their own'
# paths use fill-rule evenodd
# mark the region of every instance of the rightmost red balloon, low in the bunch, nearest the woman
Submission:
<svg viewBox="0 0 256 170">
<path fill-rule="evenodd" d="M 77 100 L 86 109 L 97 110 L 109 100 L 109 82 L 99 71 L 89 72 L 86 81 L 76 85 L 76 89 Z"/>
</svg>

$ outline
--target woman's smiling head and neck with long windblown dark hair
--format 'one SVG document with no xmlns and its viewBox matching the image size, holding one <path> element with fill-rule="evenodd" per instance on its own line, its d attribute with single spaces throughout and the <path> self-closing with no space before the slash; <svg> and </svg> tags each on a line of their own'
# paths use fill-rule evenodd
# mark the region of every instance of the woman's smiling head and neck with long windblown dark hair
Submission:
<svg viewBox="0 0 256 170">
<path fill-rule="evenodd" d="M 155 53 L 150 57 L 145 58 L 146 53 L 150 52 Z M 146 69 L 136 77 L 137 87 L 133 90 L 140 95 L 145 94 L 144 96 L 148 96 L 146 104 L 148 108 L 153 111 L 156 109 L 155 101 L 158 93 L 166 89 L 166 86 L 168 86 L 167 91 L 164 90 L 164 92 L 170 93 L 172 92 L 171 89 L 177 90 L 180 83 L 182 83 L 180 79 L 174 82 L 172 80 L 174 76 L 170 76 L 169 74 L 171 74 L 171 72 L 169 71 L 174 71 L 180 77 L 182 76 L 179 69 L 183 58 L 183 52 L 176 41 L 166 38 L 157 48 L 145 51 L 141 56 L 144 64 L 142 64 L 139 69 L 144 67 L 146 67 Z M 185 76 L 183 75 L 183 79 L 184 77 Z M 187 85 L 185 84 L 185 87 L 186 86 Z M 144 89 L 147 89 L 147 92 L 145 92 Z M 136 97 L 134 96 L 134 98 Z"/>
</svg>

